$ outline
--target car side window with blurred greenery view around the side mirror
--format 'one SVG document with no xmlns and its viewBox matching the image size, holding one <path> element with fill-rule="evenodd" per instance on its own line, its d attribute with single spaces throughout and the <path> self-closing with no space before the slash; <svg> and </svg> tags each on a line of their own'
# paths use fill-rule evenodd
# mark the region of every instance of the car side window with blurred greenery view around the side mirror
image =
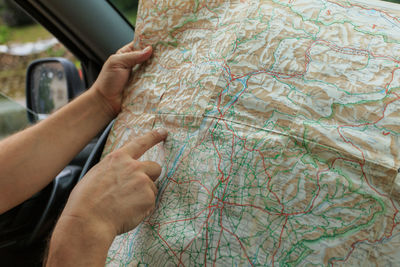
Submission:
<svg viewBox="0 0 400 267">
<path fill-rule="evenodd" d="M 0 139 L 28 126 L 26 71 L 41 58 L 79 60 L 13 1 L 0 0 Z M 60 96 L 65 103 L 65 97 Z"/>
</svg>

